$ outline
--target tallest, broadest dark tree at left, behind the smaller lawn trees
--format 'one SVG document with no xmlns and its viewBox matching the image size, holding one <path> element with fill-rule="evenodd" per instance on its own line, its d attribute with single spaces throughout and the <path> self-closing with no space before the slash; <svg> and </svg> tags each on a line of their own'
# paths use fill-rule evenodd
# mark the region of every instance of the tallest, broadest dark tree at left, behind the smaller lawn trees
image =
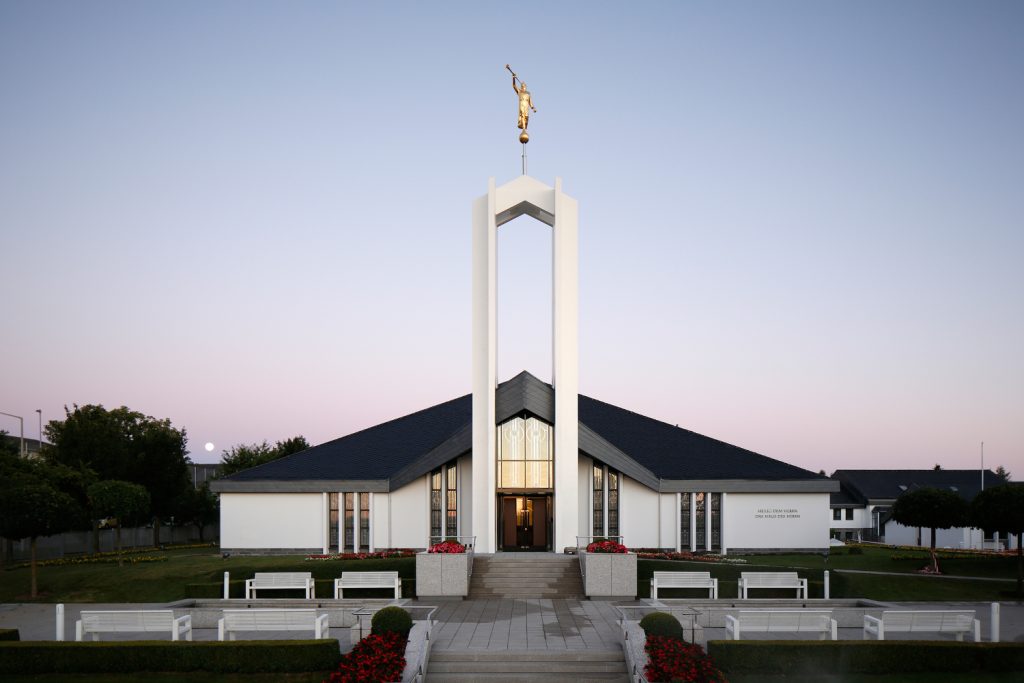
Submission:
<svg viewBox="0 0 1024 683">
<path fill-rule="evenodd" d="M 48 457 L 91 468 L 100 480 L 144 486 L 153 506 L 153 541 L 159 545 L 161 518 L 173 513 L 174 501 L 189 485 L 185 430 L 125 407 L 75 405 L 65 408 L 65 414 L 62 422 L 46 427 L 52 444 Z"/>
</svg>

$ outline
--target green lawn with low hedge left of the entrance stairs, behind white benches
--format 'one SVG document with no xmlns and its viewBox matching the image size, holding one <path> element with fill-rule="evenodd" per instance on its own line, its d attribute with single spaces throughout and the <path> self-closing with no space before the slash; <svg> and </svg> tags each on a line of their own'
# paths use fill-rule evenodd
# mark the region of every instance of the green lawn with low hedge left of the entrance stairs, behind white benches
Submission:
<svg viewBox="0 0 1024 683">
<path fill-rule="evenodd" d="M 0 572 L 0 602 L 169 602 L 185 598 L 219 598 L 224 571 L 231 572 L 233 597 L 242 597 L 246 579 L 256 571 L 310 571 L 317 581 L 316 595 L 334 595 L 333 580 L 344 570 L 397 571 L 403 594 L 415 595 L 416 558 L 374 560 L 305 560 L 302 556 L 222 558 L 214 548 L 166 550 L 166 562 L 144 562 L 118 567 L 116 564 L 74 564 L 39 567 L 40 596 L 29 599 L 30 569 Z M 292 597 L 275 591 L 276 597 Z M 294 597 L 302 597 L 296 591 Z M 391 597 L 388 591 L 367 590 L 356 595 Z M 354 596 L 353 596 L 354 597 Z"/>
</svg>

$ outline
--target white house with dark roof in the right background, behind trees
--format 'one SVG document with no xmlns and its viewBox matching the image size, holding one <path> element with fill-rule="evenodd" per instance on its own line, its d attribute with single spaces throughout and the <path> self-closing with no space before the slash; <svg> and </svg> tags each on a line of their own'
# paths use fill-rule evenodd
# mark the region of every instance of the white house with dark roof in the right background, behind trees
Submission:
<svg viewBox="0 0 1024 683">
<path fill-rule="evenodd" d="M 840 484 L 830 498 L 831 538 L 840 541 L 870 541 L 901 546 L 928 546 L 928 529 L 911 528 L 893 521 L 891 510 L 900 495 L 915 488 L 943 488 L 974 500 L 984 487 L 1006 481 L 991 470 L 836 470 L 831 478 Z M 1002 548 L 1006 539 L 985 539 L 981 529 L 959 527 L 936 529 L 940 548 Z M 1011 541 L 1011 543 L 1013 543 Z M 1014 546 L 1011 546 L 1014 547 Z"/>
</svg>

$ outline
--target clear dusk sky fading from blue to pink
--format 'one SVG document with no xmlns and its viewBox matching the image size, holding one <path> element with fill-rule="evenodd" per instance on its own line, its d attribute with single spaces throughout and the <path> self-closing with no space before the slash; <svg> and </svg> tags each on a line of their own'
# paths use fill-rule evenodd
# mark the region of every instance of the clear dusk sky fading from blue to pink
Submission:
<svg viewBox="0 0 1024 683">
<path fill-rule="evenodd" d="M 506 62 L 580 202 L 583 393 L 1024 479 L 1021 2 L 3 0 L 0 412 L 124 404 L 204 462 L 468 393 Z M 499 232 L 500 378 L 550 381 L 550 228 Z"/>
</svg>

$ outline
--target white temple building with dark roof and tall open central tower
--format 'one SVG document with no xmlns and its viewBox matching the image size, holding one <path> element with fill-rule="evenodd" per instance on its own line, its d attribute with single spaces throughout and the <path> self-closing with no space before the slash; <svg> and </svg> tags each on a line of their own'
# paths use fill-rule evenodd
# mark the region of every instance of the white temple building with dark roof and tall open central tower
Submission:
<svg viewBox="0 0 1024 683">
<path fill-rule="evenodd" d="M 551 384 L 497 378 L 497 230 L 522 215 L 553 231 Z M 827 548 L 838 481 L 580 394 L 578 215 L 560 180 L 492 179 L 473 205 L 472 392 L 214 482 L 222 548 Z"/>
</svg>

